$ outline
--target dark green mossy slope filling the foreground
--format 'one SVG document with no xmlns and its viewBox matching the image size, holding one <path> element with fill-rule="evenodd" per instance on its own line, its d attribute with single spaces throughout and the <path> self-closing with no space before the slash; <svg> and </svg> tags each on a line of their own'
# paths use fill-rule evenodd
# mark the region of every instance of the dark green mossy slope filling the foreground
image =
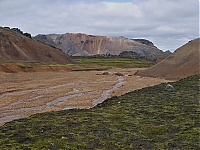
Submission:
<svg viewBox="0 0 200 150">
<path fill-rule="evenodd" d="M 89 110 L 33 115 L 0 127 L 0 149 L 180 149 L 199 145 L 199 78 L 113 97 Z"/>
</svg>

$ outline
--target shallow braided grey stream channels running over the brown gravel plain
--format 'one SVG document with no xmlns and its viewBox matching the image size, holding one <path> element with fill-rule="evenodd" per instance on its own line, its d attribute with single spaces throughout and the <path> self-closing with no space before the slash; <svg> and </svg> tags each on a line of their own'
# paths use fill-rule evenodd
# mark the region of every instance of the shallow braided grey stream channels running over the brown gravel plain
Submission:
<svg viewBox="0 0 200 150">
<path fill-rule="evenodd" d="M 120 88 L 122 85 L 124 84 L 124 77 L 122 76 L 118 76 L 118 80 L 117 83 L 108 90 L 104 90 L 101 94 L 101 96 L 98 99 L 93 99 L 92 103 L 93 106 L 96 106 L 99 103 L 102 103 L 104 100 L 106 100 L 110 93 L 118 88 Z M 80 83 L 67 83 L 67 84 L 60 84 L 60 85 L 56 85 L 56 86 L 51 86 L 51 87 L 47 87 L 47 88 L 38 88 L 38 89 L 31 89 L 31 90 L 24 90 L 24 91 L 15 91 L 15 92 L 10 92 L 10 93 L 4 93 L 2 95 L 0 95 L 0 99 L 4 98 L 6 96 L 9 95 L 18 95 L 18 94 L 23 94 L 23 93 L 29 93 L 29 92 L 37 92 L 37 91 L 48 91 L 48 90 L 52 90 L 52 89 L 57 89 L 57 88 L 61 88 L 61 87 L 65 87 L 65 86 L 70 86 L 70 85 L 80 85 Z M 36 97 L 32 97 L 29 99 L 22 99 L 20 101 L 17 102 L 13 102 L 7 106 L 4 106 L 3 108 L 0 108 L 0 113 L 3 114 L 4 117 L 0 118 L 0 125 L 15 120 L 15 119 L 19 119 L 22 117 L 25 117 L 25 113 L 29 112 L 29 111 L 38 111 L 41 112 L 42 110 L 45 109 L 49 109 L 49 108 L 53 108 L 59 105 L 62 105 L 64 103 L 66 103 L 69 99 L 74 98 L 74 97 L 82 97 L 82 96 L 86 96 L 86 95 L 92 95 L 94 93 L 96 93 L 98 91 L 87 91 L 87 92 L 82 92 L 81 90 L 79 90 L 78 88 L 73 88 L 70 92 L 66 93 L 66 96 L 62 96 L 59 98 L 56 98 L 55 100 L 48 102 L 44 105 L 41 106 L 34 106 L 34 107 L 28 107 L 28 108 L 18 108 L 18 109 L 14 109 L 14 106 L 21 104 L 21 103 L 25 103 L 28 100 L 36 100 L 39 99 L 41 97 L 44 97 L 45 95 L 38 95 Z M 52 96 L 52 95 L 48 95 L 48 96 Z M 54 95 L 55 96 L 55 95 Z M 68 106 L 65 107 L 63 110 L 67 110 L 67 109 L 74 109 L 77 108 L 76 106 Z M 86 108 L 86 107 L 78 107 L 79 109 L 82 108 Z M 89 108 L 89 107 L 87 107 Z M 14 113 L 14 115 L 13 115 Z"/>
</svg>

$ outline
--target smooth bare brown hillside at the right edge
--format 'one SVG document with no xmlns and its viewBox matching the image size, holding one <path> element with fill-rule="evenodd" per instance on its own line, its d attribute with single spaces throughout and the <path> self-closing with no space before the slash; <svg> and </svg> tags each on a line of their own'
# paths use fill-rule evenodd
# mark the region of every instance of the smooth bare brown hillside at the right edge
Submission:
<svg viewBox="0 0 200 150">
<path fill-rule="evenodd" d="M 179 79 L 200 73 L 200 38 L 178 48 L 160 63 L 138 71 L 140 76 Z"/>
</svg>

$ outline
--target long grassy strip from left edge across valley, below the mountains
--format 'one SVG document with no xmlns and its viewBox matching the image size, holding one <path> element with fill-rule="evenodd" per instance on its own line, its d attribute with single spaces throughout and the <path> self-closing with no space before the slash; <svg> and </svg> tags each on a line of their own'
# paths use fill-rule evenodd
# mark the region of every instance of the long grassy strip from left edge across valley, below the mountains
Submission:
<svg viewBox="0 0 200 150">
<path fill-rule="evenodd" d="M 71 71 L 92 71 L 108 70 L 111 68 L 145 68 L 153 66 L 154 63 L 147 60 L 137 60 L 129 58 L 75 58 L 75 64 L 42 63 L 34 61 L 0 61 L 0 65 L 7 68 L 7 72 L 16 72 L 10 66 L 16 66 L 25 72 L 35 72 L 37 70 L 65 69 Z"/>
</svg>

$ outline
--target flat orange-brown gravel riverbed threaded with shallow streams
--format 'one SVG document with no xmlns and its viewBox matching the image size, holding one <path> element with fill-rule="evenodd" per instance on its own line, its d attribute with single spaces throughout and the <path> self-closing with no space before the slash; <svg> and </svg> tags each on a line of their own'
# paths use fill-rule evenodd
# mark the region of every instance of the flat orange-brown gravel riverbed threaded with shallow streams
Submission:
<svg viewBox="0 0 200 150">
<path fill-rule="evenodd" d="M 100 99 L 168 82 L 134 76 L 137 70 L 112 69 L 108 75 L 103 71 L 0 73 L 0 125 L 35 113 L 91 108 Z"/>
</svg>

